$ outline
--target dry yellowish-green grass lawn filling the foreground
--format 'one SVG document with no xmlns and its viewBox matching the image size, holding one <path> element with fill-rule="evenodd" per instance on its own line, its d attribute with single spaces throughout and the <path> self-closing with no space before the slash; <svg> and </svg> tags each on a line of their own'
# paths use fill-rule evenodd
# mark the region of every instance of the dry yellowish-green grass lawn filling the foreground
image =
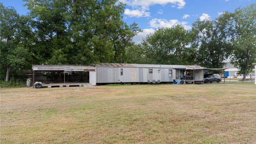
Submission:
<svg viewBox="0 0 256 144">
<path fill-rule="evenodd" d="M 253 144 L 256 85 L 1 88 L 1 144 Z"/>
</svg>

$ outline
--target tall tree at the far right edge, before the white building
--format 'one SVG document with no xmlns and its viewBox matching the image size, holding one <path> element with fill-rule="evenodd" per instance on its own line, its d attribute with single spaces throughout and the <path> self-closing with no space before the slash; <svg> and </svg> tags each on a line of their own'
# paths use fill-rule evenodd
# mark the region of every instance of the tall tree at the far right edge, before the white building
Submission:
<svg viewBox="0 0 256 144">
<path fill-rule="evenodd" d="M 235 9 L 233 17 L 234 50 L 231 62 L 239 68 L 238 74 L 246 75 L 253 69 L 256 62 L 256 4 L 246 8 Z"/>
</svg>

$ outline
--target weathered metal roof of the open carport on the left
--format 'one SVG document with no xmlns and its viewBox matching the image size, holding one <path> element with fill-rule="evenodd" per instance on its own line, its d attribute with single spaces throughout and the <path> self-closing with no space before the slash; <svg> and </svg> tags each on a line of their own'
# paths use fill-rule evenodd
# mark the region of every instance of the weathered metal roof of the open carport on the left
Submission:
<svg viewBox="0 0 256 144">
<path fill-rule="evenodd" d="M 95 71 L 95 65 L 33 65 L 37 71 Z"/>
</svg>

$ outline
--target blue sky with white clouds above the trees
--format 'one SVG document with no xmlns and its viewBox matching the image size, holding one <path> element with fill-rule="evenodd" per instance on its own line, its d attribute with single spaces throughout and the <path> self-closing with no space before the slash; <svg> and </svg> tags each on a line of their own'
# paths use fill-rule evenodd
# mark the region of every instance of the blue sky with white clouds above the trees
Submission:
<svg viewBox="0 0 256 144">
<path fill-rule="evenodd" d="M 256 0 L 120 0 L 126 3 L 124 21 L 138 23 L 143 30 L 134 37 L 139 43 L 147 34 L 159 27 L 181 24 L 190 29 L 193 21 L 213 20 L 221 12 L 234 12 L 235 8 L 246 7 Z M 13 6 L 20 15 L 28 11 L 23 0 L 1 0 L 5 6 Z"/>
</svg>

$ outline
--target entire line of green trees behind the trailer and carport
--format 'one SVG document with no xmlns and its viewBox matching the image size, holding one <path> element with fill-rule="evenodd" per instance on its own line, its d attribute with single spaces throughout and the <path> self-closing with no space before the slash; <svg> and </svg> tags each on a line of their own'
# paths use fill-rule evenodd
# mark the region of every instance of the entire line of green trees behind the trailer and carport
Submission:
<svg viewBox="0 0 256 144">
<path fill-rule="evenodd" d="M 256 4 L 224 12 L 215 20 L 197 20 L 160 28 L 140 44 L 142 30 L 124 22 L 118 0 L 24 0 L 20 16 L 0 3 L 0 79 L 31 69 L 32 64 L 125 62 L 198 64 L 222 68 L 231 59 L 246 75 L 256 62 Z"/>
</svg>

